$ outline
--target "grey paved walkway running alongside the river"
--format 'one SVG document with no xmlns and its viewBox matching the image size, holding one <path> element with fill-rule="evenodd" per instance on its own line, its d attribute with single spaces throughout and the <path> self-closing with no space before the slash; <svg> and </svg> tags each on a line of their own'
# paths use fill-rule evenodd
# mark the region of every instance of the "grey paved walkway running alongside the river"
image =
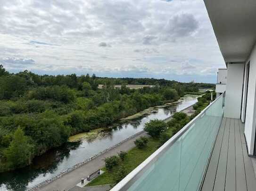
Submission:
<svg viewBox="0 0 256 191">
<path fill-rule="evenodd" d="M 77 183 L 79 183 L 81 178 L 85 178 L 99 168 L 103 168 L 105 166 L 104 159 L 106 157 L 116 155 L 120 151 L 128 151 L 132 149 L 135 146 L 133 141 L 135 141 L 140 136 L 145 135 L 147 135 L 146 132 L 138 135 L 135 138 L 129 139 L 127 142 L 124 142 L 123 144 L 117 146 L 109 152 L 100 155 L 94 160 L 91 160 L 90 162 L 84 164 L 80 168 L 76 168 L 75 170 L 67 173 L 66 175 L 61 176 L 57 180 L 39 188 L 38 191 L 68 191 L 69 189 L 73 188 Z"/>
</svg>

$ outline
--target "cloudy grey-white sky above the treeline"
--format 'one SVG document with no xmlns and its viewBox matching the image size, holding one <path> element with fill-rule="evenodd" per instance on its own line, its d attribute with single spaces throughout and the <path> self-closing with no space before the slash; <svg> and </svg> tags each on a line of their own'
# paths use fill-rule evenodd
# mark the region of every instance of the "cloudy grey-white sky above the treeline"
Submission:
<svg viewBox="0 0 256 191">
<path fill-rule="evenodd" d="M 0 64 L 206 83 L 225 68 L 203 0 L 0 0 Z"/>
</svg>

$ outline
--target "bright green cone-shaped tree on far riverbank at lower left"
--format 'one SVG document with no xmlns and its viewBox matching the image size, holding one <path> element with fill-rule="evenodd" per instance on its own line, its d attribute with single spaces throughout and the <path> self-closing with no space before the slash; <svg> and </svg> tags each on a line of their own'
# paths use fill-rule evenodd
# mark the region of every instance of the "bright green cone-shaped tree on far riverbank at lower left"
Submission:
<svg viewBox="0 0 256 191">
<path fill-rule="evenodd" d="M 15 131 L 13 140 L 8 149 L 5 150 L 4 156 L 15 168 L 24 167 L 31 163 L 32 145 L 29 144 L 28 137 L 24 135 L 20 127 Z"/>
</svg>

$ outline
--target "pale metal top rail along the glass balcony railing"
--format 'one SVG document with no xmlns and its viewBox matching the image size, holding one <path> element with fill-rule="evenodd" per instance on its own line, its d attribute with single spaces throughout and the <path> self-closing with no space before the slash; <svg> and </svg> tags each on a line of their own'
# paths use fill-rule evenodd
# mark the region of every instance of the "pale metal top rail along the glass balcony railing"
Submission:
<svg viewBox="0 0 256 191">
<path fill-rule="evenodd" d="M 199 118 L 205 115 L 206 111 L 211 107 L 218 99 L 225 96 L 225 92 L 217 99 L 211 102 L 200 114 L 186 124 L 180 131 L 178 131 L 172 138 L 170 138 L 164 145 L 162 145 L 157 151 L 151 154 L 146 160 L 144 160 L 137 168 L 132 170 L 121 182 L 117 183 L 111 191 L 126 191 L 128 188 L 145 172 L 151 164 L 153 164 L 162 154 L 165 153 Z"/>
</svg>

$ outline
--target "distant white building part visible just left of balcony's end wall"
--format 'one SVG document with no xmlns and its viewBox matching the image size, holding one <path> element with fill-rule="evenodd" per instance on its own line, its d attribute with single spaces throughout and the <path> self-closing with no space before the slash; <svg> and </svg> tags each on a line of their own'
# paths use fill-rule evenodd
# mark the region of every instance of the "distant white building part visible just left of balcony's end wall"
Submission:
<svg viewBox="0 0 256 191">
<path fill-rule="evenodd" d="M 216 98 L 226 91 L 227 69 L 218 69 L 217 84 L 215 88 Z"/>
</svg>

